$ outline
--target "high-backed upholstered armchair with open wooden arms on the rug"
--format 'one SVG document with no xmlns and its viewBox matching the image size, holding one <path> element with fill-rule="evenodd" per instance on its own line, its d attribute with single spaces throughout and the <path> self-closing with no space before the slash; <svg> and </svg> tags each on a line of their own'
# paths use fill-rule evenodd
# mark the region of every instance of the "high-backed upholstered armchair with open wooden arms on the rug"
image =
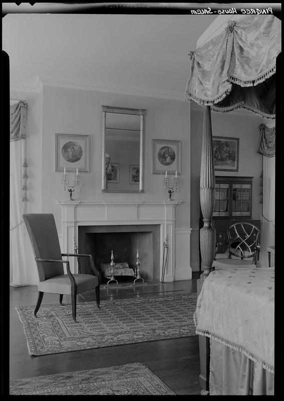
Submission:
<svg viewBox="0 0 284 401">
<path fill-rule="evenodd" d="M 99 270 L 94 265 L 92 255 L 61 253 L 55 219 L 52 214 L 24 214 L 23 219 L 32 243 L 39 273 L 39 293 L 35 316 L 37 316 L 45 292 L 60 294 L 60 304 L 62 304 L 63 295 L 71 295 L 72 317 L 75 321 L 77 294 L 95 288 L 96 303 L 100 307 L 101 278 Z M 80 266 L 78 274 L 71 273 L 69 261 L 63 260 L 63 256 L 76 257 L 78 260 L 79 258 L 89 258 L 94 275 L 80 273 Z M 67 274 L 64 272 L 64 264 Z"/>
</svg>

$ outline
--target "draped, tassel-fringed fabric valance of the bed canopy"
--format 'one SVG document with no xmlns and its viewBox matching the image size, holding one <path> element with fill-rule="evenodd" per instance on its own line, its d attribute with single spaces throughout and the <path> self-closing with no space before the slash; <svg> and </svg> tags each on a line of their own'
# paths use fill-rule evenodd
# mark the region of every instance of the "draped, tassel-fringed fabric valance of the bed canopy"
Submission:
<svg viewBox="0 0 284 401">
<path fill-rule="evenodd" d="M 275 118 L 276 57 L 281 22 L 273 15 L 229 20 L 224 31 L 190 52 L 185 100 L 228 112 L 245 108 Z"/>
</svg>

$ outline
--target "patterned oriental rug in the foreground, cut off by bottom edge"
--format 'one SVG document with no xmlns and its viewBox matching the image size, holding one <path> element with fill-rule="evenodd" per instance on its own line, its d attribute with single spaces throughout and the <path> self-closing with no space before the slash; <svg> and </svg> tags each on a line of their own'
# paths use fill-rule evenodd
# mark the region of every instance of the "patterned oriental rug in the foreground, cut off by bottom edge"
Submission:
<svg viewBox="0 0 284 401">
<path fill-rule="evenodd" d="M 10 381 L 10 395 L 175 395 L 143 363 Z"/>
</svg>

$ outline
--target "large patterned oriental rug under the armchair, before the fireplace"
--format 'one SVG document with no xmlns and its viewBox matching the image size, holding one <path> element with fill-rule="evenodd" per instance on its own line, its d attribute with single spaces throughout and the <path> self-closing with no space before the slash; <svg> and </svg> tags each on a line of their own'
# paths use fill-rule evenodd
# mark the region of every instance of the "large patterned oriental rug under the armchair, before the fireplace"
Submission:
<svg viewBox="0 0 284 401">
<path fill-rule="evenodd" d="M 17 306 L 30 355 L 47 355 L 193 336 L 196 293 L 103 300 L 77 304 Z"/>
</svg>

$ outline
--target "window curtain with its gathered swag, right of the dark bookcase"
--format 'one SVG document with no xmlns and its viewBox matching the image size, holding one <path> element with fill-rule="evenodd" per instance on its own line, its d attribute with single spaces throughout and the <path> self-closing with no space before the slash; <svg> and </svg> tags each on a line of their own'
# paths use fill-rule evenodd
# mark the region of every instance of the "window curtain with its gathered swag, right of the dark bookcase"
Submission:
<svg viewBox="0 0 284 401">
<path fill-rule="evenodd" d="M 260 239 L 260 263 L 268 266 L 267 247 L 274 246 L 275 220 L 275 120 L 259 125 L 262 154 L 262 235 Z"/>
</svg>

